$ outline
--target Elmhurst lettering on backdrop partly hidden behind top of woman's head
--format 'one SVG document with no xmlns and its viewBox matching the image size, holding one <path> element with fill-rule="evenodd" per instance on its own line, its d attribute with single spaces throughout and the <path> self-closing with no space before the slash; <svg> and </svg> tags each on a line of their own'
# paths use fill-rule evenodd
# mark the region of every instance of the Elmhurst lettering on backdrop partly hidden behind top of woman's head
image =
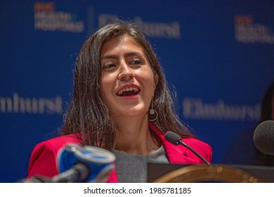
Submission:
<svg viewBox="0 0 274 197">
<path fill-rule="evenodd" d="M 102 13 L 98 16 L 99 27 L 103 27 L 107 23 L 119 18 L 115 14 Z M 180 23 L 173 21 L 171 23 L 159 23 L 144 21 L 140 16 L 133 18 L 133 23 L 136 23 L 143 31 L 150 35 L 150 37 L 180 39 Z"/>
</svg>

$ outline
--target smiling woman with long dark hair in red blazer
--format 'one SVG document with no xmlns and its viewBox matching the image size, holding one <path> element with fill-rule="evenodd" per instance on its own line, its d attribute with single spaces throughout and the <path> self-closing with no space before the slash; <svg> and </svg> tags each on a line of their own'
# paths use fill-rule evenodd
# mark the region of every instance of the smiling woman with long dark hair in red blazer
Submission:
<svg viewBox="0 0 274 197">
<path fill-rule="evenodd" d="M 188 131 L 173 105 L 162 68 L 141 30 L 119 20 L 110 23 L 82 46 L 61 136 L 34 147 L 28 177 L 58 174 L 56 154 L 72 142 L 115 153 L 115 170 L 107 182 L 147 182 L 148 162 L 203 163 L 187 148 L 166 141 L 169 130 L 211 162 L 211 146 Z"/>
</svg>

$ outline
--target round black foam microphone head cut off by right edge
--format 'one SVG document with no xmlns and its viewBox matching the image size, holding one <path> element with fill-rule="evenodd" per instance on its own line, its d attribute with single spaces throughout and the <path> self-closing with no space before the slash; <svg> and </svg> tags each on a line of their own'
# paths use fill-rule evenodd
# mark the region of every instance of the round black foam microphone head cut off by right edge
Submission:
<svg viewBox="0 0 274 197">
<path fill-rule="evenodd" d="M 259 151 L 274 155 L 274 120 L 261 122 L 254 131 L 253 140 Z"/>
</svg>

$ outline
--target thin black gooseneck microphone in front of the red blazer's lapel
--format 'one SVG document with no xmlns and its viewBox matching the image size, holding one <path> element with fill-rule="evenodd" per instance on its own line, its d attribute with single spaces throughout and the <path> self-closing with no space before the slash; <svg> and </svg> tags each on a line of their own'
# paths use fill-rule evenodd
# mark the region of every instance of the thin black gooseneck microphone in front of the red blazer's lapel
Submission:
<svg viewBox="0 0 274 197">
<path fill-rule="evenodd" d="M 181 136 L 179 136 L 178 134 L 168 131 L 165 135 L 164 135 L 165 139 L 167 139 L 167 141 L 169 141 L 171 144 L 174 145 L 178 145 L 181 144 L 183 146 L 185 146 L 186 148 L 188 148 L 190 151 L 192 151 L 193 153 L 195 153 L 195 155 L 197 155 L 205 164 L 207 165 L 211 165 L 207 160 L 205 160 L 202 155 L 200 155 L 199 153 L 197 153 L 196 151 L 193 150 L 193 148 L 191 148 L 190 146 L 188 146 L 188 144 L 185 144 L 185 142 L 182 141 Z"/>
</svg>

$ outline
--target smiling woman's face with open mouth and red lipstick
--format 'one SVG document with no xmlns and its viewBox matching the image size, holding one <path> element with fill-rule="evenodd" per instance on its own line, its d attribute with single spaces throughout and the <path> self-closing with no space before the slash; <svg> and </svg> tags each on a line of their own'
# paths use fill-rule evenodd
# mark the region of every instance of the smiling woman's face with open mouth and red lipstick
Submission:
<svg viewBox="0 0 274 197">
<path fill-rule="evenodd" d="M 147 115 L 157 85 L 143 48 L 129 36 L 110 39 L 101 49 L 101 89 L 112 116 Z"/>
</svg>

